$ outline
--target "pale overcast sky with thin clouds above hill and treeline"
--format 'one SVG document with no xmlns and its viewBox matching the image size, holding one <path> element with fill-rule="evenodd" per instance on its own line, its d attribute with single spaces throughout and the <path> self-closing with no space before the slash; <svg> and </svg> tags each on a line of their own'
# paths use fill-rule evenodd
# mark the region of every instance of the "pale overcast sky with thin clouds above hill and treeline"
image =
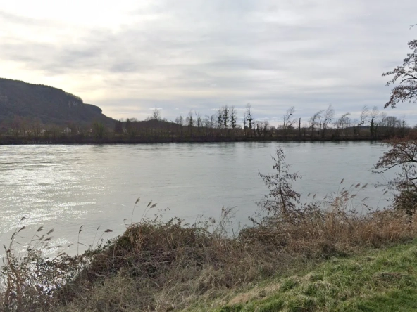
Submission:
<svg viewBox="0 0 417 312">
<path fill-rule="evenodd" d="M 115 119 L 211 115 L 301 123 L 385 109 L 383 72 L 417 38 L 415 0 L 0 0 L 0 77 L 55 86 Z"/>
</svg>

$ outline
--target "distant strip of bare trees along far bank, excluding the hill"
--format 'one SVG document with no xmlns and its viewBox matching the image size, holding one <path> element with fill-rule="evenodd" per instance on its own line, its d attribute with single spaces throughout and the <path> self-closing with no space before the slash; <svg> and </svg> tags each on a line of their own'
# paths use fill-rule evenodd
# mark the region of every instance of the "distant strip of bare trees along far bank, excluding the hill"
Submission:
<svg viewBox="0 0 417 312">
<path fill-rule="evenodd" d="M 295 118 L 294 112 L 294 107 L 289 108 L 280 126 L 256 120 L 250 104 L 244 110 L 240 123 L 237 110 L 227 105 L 213 115 L 202 117 L 199 112 L 189 112 L 185 117 L 179 115 L 175 121 L 163 119 L 161 111 L 156 109 L 146 120 L 119 120 L 113 128 L 99 121 L 89 126 L 68 122 L 66 127 L 25 122 L 0 129 L 0 143 L 344 141 L 378 140 L 404 136 L 413 131 L 404 120 L 387 116 L 376 108 L 369 110 L 366 106 L 359 119 L 351 119 L 349 112 L 335 117 L 330 105 L 327 110 L 314 113 L 309 122 L 302 125 L 301 118 Z"/>
</svg>

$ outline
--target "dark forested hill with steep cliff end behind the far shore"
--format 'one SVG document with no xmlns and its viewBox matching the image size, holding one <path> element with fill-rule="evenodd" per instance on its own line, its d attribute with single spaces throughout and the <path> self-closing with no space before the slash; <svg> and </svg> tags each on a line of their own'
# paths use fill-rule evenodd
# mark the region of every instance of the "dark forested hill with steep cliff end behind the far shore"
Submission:
<svg viewBox="0 0 417 312">
<path fill-rule="evenodd" d="M 61 89 L 0 78 L 0 124 L 13 122 L 15 117 L 61 125 L 99 121 L 112 126 L 114 122 L 102 114 L 101 108 Z"/>
</svg>

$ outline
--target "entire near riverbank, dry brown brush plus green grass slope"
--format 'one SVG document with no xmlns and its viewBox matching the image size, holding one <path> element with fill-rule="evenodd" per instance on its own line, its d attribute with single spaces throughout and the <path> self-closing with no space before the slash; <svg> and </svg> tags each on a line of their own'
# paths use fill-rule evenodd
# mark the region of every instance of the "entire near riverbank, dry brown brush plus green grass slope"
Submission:
<svg viewBox="0 0 417 312">
<path fill-rule="evenodd" d="M 24 257 L 8 249 L 0 309 L 378 311 L 381 302 L 413 307 L 417 216 L 394 210 L 353 214 L 342 201 L 326 210 L 309 204 L 302 214 L 254 220 L 236 235 L 230 209 L 219 220 L 193 225 L 142 219 L 104 246 L 53 259 L 41 256 L 51 233 L 42 235 L 40 228 L 37 247 Z M 16 235 L 20 230 L 25 229 Z"/>
</svg>

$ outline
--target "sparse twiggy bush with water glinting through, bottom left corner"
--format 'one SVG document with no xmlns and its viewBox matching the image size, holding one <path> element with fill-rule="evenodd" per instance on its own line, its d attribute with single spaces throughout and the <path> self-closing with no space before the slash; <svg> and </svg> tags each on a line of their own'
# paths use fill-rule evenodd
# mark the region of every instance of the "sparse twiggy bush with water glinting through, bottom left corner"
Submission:
<svg viewBox="0 0 417 312">
<path fill-rule="evenodd" d="M 50 246 L 54 229 L 42 234 L 43 226 L 37 229 L 23 254 L 20 254 L 15 245 L 21 245 L 15 240 L 23 230 L 25 226 L 18 226 L 10 245 L 4 246 L 4 266 L 0 271 L 0 311 L 46 310 L 56 291 L 72 280 L 77 270 L 86 264 L 85 257 L 70 257 L 65 252 L 46 258 L 44 250 L 61 246 Z"/>
</svg>

